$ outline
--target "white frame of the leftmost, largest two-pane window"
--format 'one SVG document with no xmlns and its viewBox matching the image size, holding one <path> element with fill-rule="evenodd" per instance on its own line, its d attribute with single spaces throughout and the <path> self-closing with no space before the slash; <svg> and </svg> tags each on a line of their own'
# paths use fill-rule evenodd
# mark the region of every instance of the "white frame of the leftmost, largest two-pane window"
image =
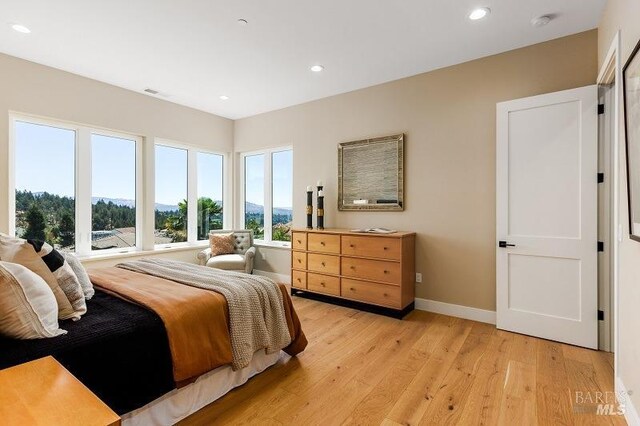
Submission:
<svg viewBox="0 0 640 426">
<path fill-rule="evenodd" d="M 75 132 L 75 254 L 80 257 L 93 257 L 108 255 L 112 253 L 130 253 L 140 250 L 142 247 L 142 143 L 141 136 L 126 132 L 116 132 L 97 126 L 86 126 L 76 123 L 65 122 L 63 120 L 53 120 L 39 116 L 9 113 L 9 234 L 15 235 L 16 223 L 16 199 L 15 199 L 15 126 L 16 122 L 26 122 L 35 125 L 54 127 L 58 129 L 71 130 Z M 136 144 L 136 245 L 135 247 L 114 248 L 107 250 L 91 250 L 91 206 L 92 206 L 92 170 L 91 170 L 91 150 L 92 134 L 117 137 L 132 140 Z"/>
</svg>

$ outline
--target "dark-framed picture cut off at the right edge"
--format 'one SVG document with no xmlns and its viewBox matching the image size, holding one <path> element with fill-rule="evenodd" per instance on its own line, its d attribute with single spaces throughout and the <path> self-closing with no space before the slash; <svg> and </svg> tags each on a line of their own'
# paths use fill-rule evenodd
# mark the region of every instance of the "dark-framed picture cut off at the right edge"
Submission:
<svg viewBox="0 0 640 426">
<path fill-rule="evenodd" d="M 640 242 L 640 40 L 622 69 L 629 237 Z"/>
</svg>

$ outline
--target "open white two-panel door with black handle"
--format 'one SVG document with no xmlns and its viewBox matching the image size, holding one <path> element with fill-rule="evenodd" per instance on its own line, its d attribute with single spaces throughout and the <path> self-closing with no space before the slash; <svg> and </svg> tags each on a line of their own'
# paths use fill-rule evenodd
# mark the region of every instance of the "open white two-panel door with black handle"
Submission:
<svg viewBox="0 0 640 426">
<path fill-rule="evenodd" d="M 598 347 L 597 87 L 497 105 L 497 327 Z"/>
</svg>

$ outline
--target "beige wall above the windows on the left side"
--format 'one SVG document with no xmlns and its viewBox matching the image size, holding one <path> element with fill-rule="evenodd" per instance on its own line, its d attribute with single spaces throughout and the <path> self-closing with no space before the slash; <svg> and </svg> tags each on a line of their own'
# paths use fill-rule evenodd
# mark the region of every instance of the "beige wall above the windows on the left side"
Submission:
<svg viewBox="0 0 640 426">
<path fill-rule="evenodd" d="M 162 138 L 233 152 L 232 120 L 3 54 L 0 70 L 0 232 L 7 232 L 9 221 L 9 111 L 128 132 L 145 143 Z M 149 170 L 147 181 L 154 176 Z M 196 251 L 176 256 L 195 260 Z"/>
</svg>

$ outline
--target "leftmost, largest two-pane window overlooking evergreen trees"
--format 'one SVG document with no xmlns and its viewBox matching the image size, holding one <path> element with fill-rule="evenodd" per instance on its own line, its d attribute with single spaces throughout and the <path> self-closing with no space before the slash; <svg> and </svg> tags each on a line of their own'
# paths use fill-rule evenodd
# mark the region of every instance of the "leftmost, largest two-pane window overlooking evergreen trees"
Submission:
<svg viewBox="0 0 640 426">
<path fill-rule="evenodd" d="M 12 126 L 16 236 L 80 255 L 136 248 L 139 138 L 36 118 Z"/>
</svg>

